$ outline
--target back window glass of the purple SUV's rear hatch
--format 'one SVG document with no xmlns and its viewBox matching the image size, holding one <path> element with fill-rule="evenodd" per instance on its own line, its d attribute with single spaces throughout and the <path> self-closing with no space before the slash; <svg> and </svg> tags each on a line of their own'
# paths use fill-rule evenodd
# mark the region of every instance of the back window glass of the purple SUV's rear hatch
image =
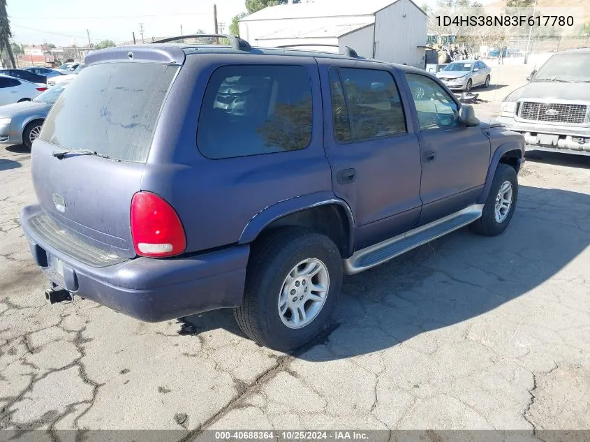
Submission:
<svg viewBox="0 0 590 442">
<path fill-rule="evenodd" d="M 58 98 L 39 138 L 64 149 L 145 163 L 177 70 L 134 62 L 88 66 Z"/>
</svg>

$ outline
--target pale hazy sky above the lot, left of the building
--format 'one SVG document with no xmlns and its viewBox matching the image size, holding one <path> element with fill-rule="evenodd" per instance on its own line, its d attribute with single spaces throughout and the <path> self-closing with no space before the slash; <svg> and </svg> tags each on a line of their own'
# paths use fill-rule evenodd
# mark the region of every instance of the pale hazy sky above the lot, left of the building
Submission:
<svg viewBox="0 0 590 442">
<path fill-rule="evenodd" d="M 8 0 L 13 38 L 18 43 L 54 45 L 88 44 L 113 40 L 193 34 L 198 29 L 214 31 L 213 3 L 217 20 L 225 25 L 245 11 L 244 0 Z"/>
</svg>

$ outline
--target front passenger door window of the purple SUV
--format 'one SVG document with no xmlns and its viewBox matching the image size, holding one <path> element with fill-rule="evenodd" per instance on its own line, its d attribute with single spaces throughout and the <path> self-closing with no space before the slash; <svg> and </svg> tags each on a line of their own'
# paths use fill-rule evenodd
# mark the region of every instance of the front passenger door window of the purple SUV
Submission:
<svg viewBox="0 0 590 442">
<path fill-rule="evenodd" d="M 432 78 L 406 73 L 422 131 L 458 126 L 459 107 Z"/>
</svg>

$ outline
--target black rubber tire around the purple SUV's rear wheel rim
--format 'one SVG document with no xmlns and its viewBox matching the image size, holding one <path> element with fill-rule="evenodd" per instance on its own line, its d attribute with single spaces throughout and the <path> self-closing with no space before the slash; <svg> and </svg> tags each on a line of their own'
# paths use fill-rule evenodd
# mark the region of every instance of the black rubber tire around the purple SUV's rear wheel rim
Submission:
<svg viewBox="0 0 590 442">
<path fill-rule="evenodd" d="M 330 284 L 317 316 L 304 327 L 293 329 L 281 321 L 279 294 L 288 273 L 308 258 L 325 264 Z M 291 351 L 327 329 L 341 286 L 342 260 L 330 238 L 300 227 L 273 230 L 251 250 L 244 301 L 234 310 L 235 320 L 244 334 L 258 344 Z"/>
</svg>

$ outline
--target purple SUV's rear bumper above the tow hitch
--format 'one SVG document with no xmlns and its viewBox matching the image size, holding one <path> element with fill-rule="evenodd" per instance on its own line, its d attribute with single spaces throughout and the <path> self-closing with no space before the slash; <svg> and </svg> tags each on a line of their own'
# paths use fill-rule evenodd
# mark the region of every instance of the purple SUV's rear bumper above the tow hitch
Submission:
<svg viewBox="0 0 590 442">
<path fill-rule="evenodd" d="M 31 220 L 41 215 L 43 210 L 39 205 L 24 207 L 20 214 L 31 253 L 52 282 L 75 295 L 147 322 L 237 307 L 242 303 L 248 245 L 197 256 L 139 257 L 93 267 L 50 245 L 32 228 Z"/>
</svg>

